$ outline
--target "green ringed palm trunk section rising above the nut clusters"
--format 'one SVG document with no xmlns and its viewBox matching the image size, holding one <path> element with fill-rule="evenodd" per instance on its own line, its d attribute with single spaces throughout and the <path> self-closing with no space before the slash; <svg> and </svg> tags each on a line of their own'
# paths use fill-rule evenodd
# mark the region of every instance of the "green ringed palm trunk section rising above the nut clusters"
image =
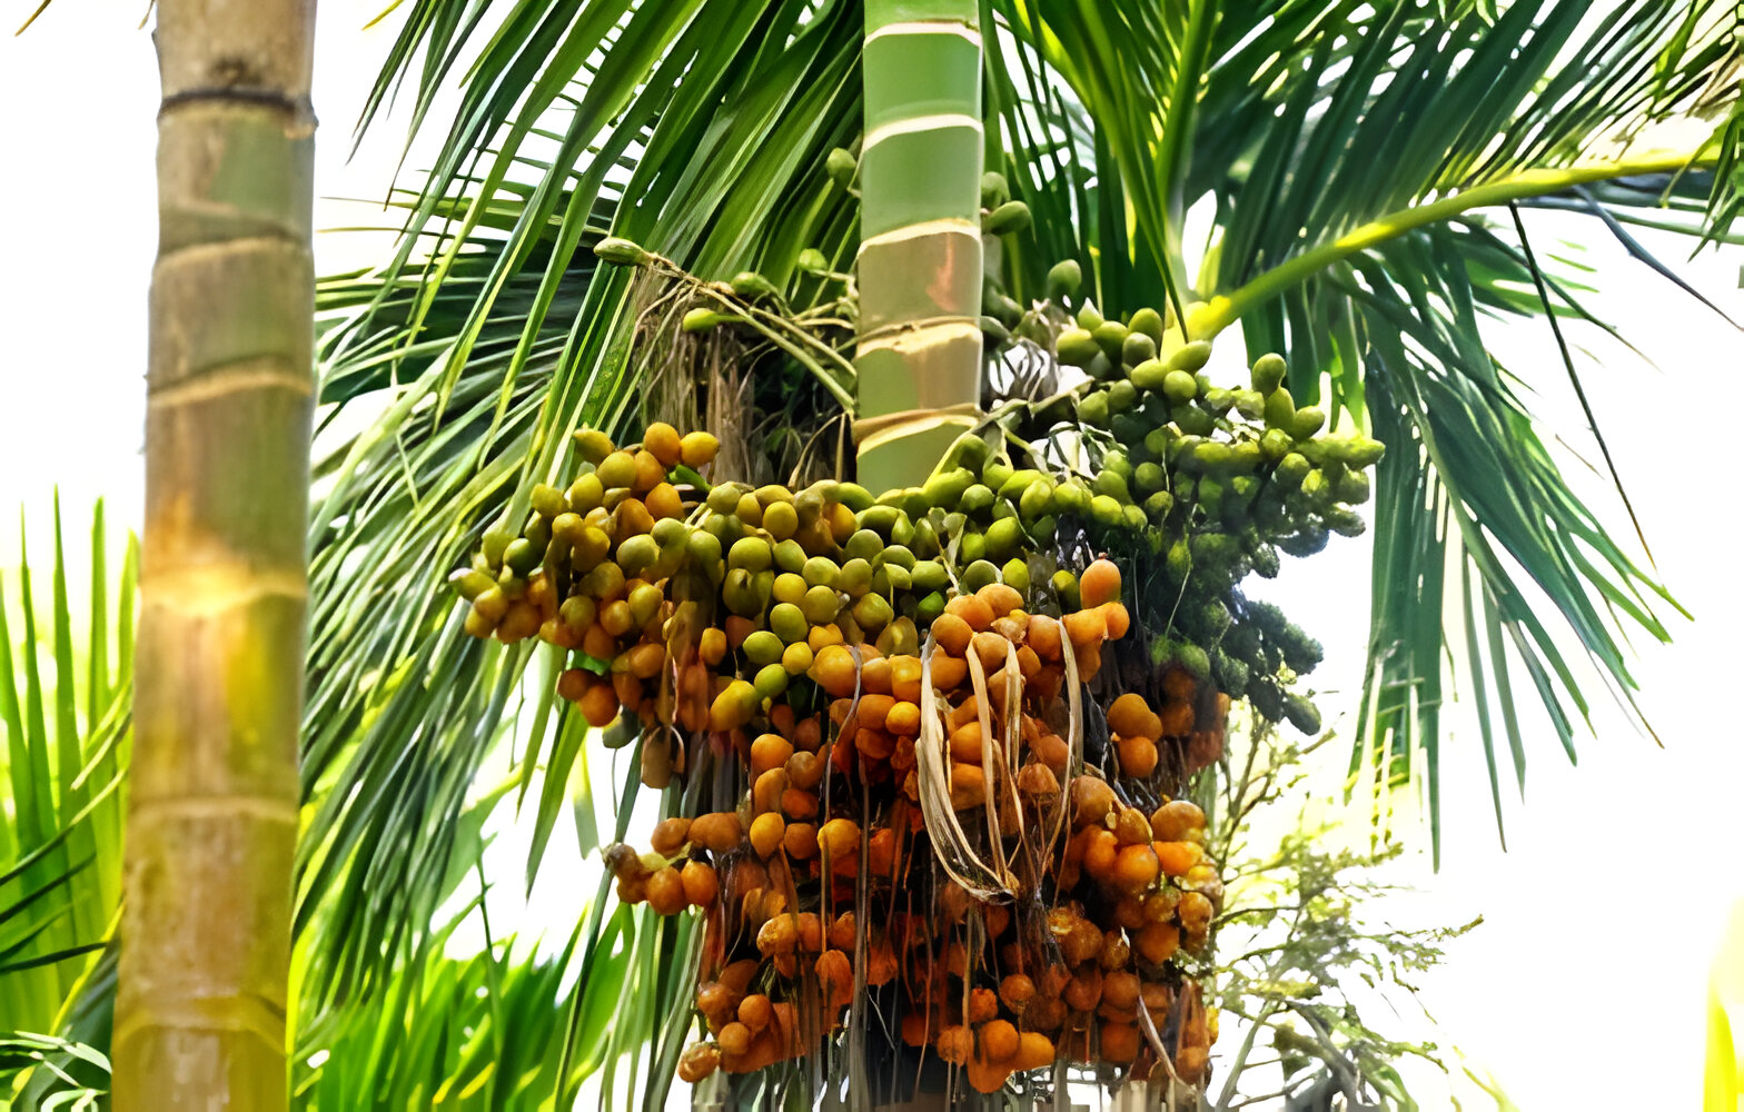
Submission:
<svg viewBox="0 0 1744 1112">
<path fill-rule="evenodd" d="M 860 483 L 921 483 L 980 399 L 977 0 L 867 0 Z"/>
</svg>

